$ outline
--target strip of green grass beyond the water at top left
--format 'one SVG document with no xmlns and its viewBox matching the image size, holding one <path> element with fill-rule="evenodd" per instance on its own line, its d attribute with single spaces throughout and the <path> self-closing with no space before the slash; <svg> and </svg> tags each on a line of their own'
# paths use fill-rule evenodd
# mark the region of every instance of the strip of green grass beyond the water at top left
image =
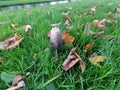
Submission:
<svg viewBox="0 0 120 90">
<path fill-rule="evenodd" d="M 3 0 L 0 1 L 0 6 L 9 6 L 15 4 L 26 4 L 26 3 L 37 3 L 37 2 L 46 2 L 53 0 Z"/>
</svg>

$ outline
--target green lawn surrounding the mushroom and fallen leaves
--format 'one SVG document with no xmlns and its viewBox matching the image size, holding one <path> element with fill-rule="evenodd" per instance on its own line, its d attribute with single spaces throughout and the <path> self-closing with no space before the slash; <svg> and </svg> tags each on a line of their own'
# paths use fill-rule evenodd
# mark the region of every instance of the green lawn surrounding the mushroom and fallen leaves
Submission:
<svg viewBox="0 0 120 90">
<path fill-rule="evenodd" d="M 113 5 L 108 5 L 111 2 Z M 27 15 L 23 9 L 0 12 L 0 22 L 8 22 L 8 24 L 0 26 L 0 41 L 14 34 L 14 32 L 18 32 L 24 37 L 20 46 L 14 50 L 0 51 L 0 56 L 6 59 L 0 64 L 0 73 L 25 75 L 30 72 L 25 80 L 26 87 L 21 90 L 39 90 L 49 79 L 58 75 L 62 71 L 61 65 L 71 47 L 65 45 L 61 48 L 59 50 L 59 61 L 56 62 L 53 50 L 49 48 L 47 33 L 51 29 L 50 24 L 64 21 L 61 13 L 67 11 L 66 7 L 68 6 L 73 8 L 70 13 L 72 25 L 83 24 L 81 27 L 73 28 L 69 33 L 75 37 L 74 46 L 78 47 L 77 53 L 87 68 L 82 74 L 79 64 L 76 64 L 69 71 L 63 72 L 60 77 L 43 90 L 54 90 L 54 88 L 55 90 L 120 90 L 120 18 L 115 18 L 118 21 L 117 25 L 107 24 L 108 28 L 105 30 L 105 35 L 117 36 L 118 39 L 116 40 L 93 39 L 83 34 L 86 23 L 91 23 L 95 19 L 108 19 L 107 13 L 119 4 L 119 0 L 82 0 L 77 3 L 30 8 L 30 15 Z M 94 6 L 97 6 L 96 15 L 88 15 L 83 18 L 74 17 Z M 11 28 L 12 23 L 16 23 L 18 26 L 32 25 L 31 35 L 29 36 L 22 30 L 13 30 Z M 62 24 L 60 29 L 64 31 L 65 25 Z M 91 29 L 96 32 L 101 31 L 95 26 L 91 26 Z M 85 45 L 92 42 L 95 43 L 94 48 L 87 53 L 83 52 Z M 105 62 L 101 64 L 101 68 L 92 65 L 87 59 L 94 52 L 107 57 Z M 33 59 L 35 53 L 37 53 L 37 57 Z M 7 84 L 0 78 L 0 90 L 6 88 L 8 88 Z"/>
</svg>

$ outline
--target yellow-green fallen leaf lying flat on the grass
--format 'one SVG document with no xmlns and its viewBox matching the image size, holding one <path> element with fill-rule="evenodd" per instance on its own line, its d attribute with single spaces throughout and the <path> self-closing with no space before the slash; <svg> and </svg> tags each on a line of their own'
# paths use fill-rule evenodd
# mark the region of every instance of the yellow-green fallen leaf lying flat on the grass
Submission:
<svg viewBox="0 0 120 90">
<path fill-rule="evenodd" d="M 98 66 L 98 67 L 101 67 L 101 65 L 100 65 L 99 63 L 100 63 L 100 62 L 104 62 L 105 57 L 104 57 L 104 56 L 101 56 L 101 55 L 97 55 L 96 53 L 94 53 L 94 54 L 92 54 L 92 55 L 88 58 L 88 60 L 89 60 L 92 64 L 94 64 L 94 65 L 96 65 L 96 66 Z"/>
</svg>

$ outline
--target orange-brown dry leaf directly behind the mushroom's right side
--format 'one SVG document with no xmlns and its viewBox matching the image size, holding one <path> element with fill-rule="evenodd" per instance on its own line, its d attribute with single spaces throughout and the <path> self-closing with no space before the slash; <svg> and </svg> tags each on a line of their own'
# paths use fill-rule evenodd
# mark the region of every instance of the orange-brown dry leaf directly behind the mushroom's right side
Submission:
<svg viewBox="0 0 120 90">
<path fill-rule="evenodd" d="M 66 44 L 69 44 L 69 45 L 72 45 L 72 43 L 73 43 L 74 40 L 75 40 L 75 38 L 74 38 L 73 36 L 70 36 L 70 35 L 68 34 L 68 31 L 67 31 L 67 30 L 62 33 L 62 38 L 63 38 L 64 42 L 65 42 Z"/>
</svg>

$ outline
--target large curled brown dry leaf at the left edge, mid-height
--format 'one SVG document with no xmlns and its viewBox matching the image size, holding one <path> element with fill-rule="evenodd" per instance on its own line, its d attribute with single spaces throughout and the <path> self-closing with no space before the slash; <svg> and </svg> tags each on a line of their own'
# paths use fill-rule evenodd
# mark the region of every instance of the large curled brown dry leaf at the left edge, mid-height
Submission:
<svg viewBox="0 0 120 90">
<path fill-rule="evenodd" d="M 13 36 L 9 36 L 4 41 L 0 42 L 0 49 L 13 49 L 20 44 L 22 37 L 15 33 Z"/>
</svg>

